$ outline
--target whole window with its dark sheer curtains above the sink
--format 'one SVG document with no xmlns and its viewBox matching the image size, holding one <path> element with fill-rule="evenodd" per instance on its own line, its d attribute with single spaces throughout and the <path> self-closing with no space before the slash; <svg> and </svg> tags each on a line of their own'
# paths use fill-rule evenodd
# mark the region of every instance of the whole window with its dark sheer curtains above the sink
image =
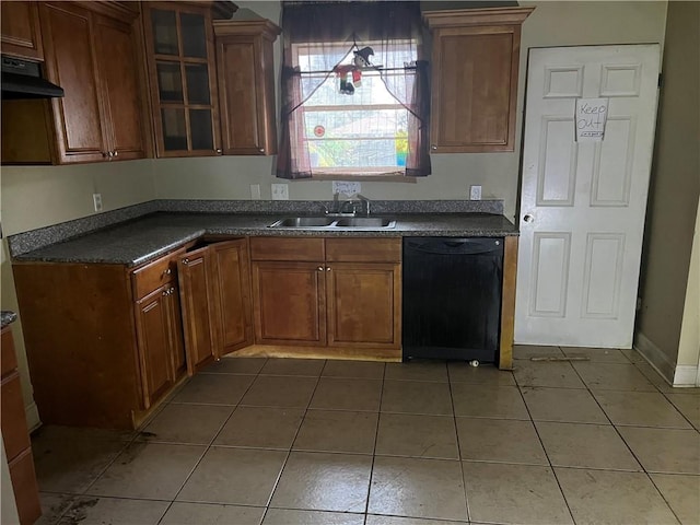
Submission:
<svg viewBox="0 0 700 525">
<path fill-rule="evenodd" d="M 418 2 L 285 2 L 282 27 L 277 175 L 428 175 Z M 355 54 L 368 48 L 360 67 Z"/>
</svg>

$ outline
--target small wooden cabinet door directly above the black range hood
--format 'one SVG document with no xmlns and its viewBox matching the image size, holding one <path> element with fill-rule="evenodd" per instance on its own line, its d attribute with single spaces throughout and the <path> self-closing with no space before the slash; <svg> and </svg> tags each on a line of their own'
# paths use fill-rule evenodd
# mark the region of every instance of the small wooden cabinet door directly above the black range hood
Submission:
<svg viewBox="0 0 700 525">
<path fill-rule="evenodd" d="M 37 2 L 0 2 L 2 54 L 44 60 Z"/>
</svg>

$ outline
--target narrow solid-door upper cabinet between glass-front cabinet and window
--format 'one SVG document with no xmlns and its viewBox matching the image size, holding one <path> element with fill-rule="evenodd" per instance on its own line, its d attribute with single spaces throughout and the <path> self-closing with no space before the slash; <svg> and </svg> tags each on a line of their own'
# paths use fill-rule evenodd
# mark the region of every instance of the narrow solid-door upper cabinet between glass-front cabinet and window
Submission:
<svg viewBox="0 0 700 525">
<path fill-rule="evenodd" d="M 217 69 L 225 155 L 277 153 L 272 43 L 269 20 L 217 21 Z"/>
</svg>

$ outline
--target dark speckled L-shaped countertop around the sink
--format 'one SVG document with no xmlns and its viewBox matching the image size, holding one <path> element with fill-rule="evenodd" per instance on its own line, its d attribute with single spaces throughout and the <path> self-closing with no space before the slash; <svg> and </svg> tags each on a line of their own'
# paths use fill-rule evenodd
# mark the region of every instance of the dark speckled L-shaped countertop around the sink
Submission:
<svg viewBox="0 0 700 525">
<path fill-rule="evenodd" d="M 290 217 L 242 213 L 156 212 L 14 256 L 16 261 L 102 262 L 138 266 L 203 235 L 275 236 L 509 236 L 517 229 L 503 215 L 488 213 L 382 214 L 393 229 L 275 229 Z"/>
</svg>

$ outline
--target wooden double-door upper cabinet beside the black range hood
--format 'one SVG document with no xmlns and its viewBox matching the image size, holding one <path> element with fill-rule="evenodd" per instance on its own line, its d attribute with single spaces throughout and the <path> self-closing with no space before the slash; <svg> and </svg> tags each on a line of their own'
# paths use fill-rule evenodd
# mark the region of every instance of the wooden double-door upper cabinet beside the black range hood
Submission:
<svg viewBox="0 0 700 525">
<path fill-rule="evenodd" d="M 39 4 L 45 75 L 66 95 L 3 101 L 3 163 L 147 156 L 137 18 L 117 2 Z"/>
</svg>

